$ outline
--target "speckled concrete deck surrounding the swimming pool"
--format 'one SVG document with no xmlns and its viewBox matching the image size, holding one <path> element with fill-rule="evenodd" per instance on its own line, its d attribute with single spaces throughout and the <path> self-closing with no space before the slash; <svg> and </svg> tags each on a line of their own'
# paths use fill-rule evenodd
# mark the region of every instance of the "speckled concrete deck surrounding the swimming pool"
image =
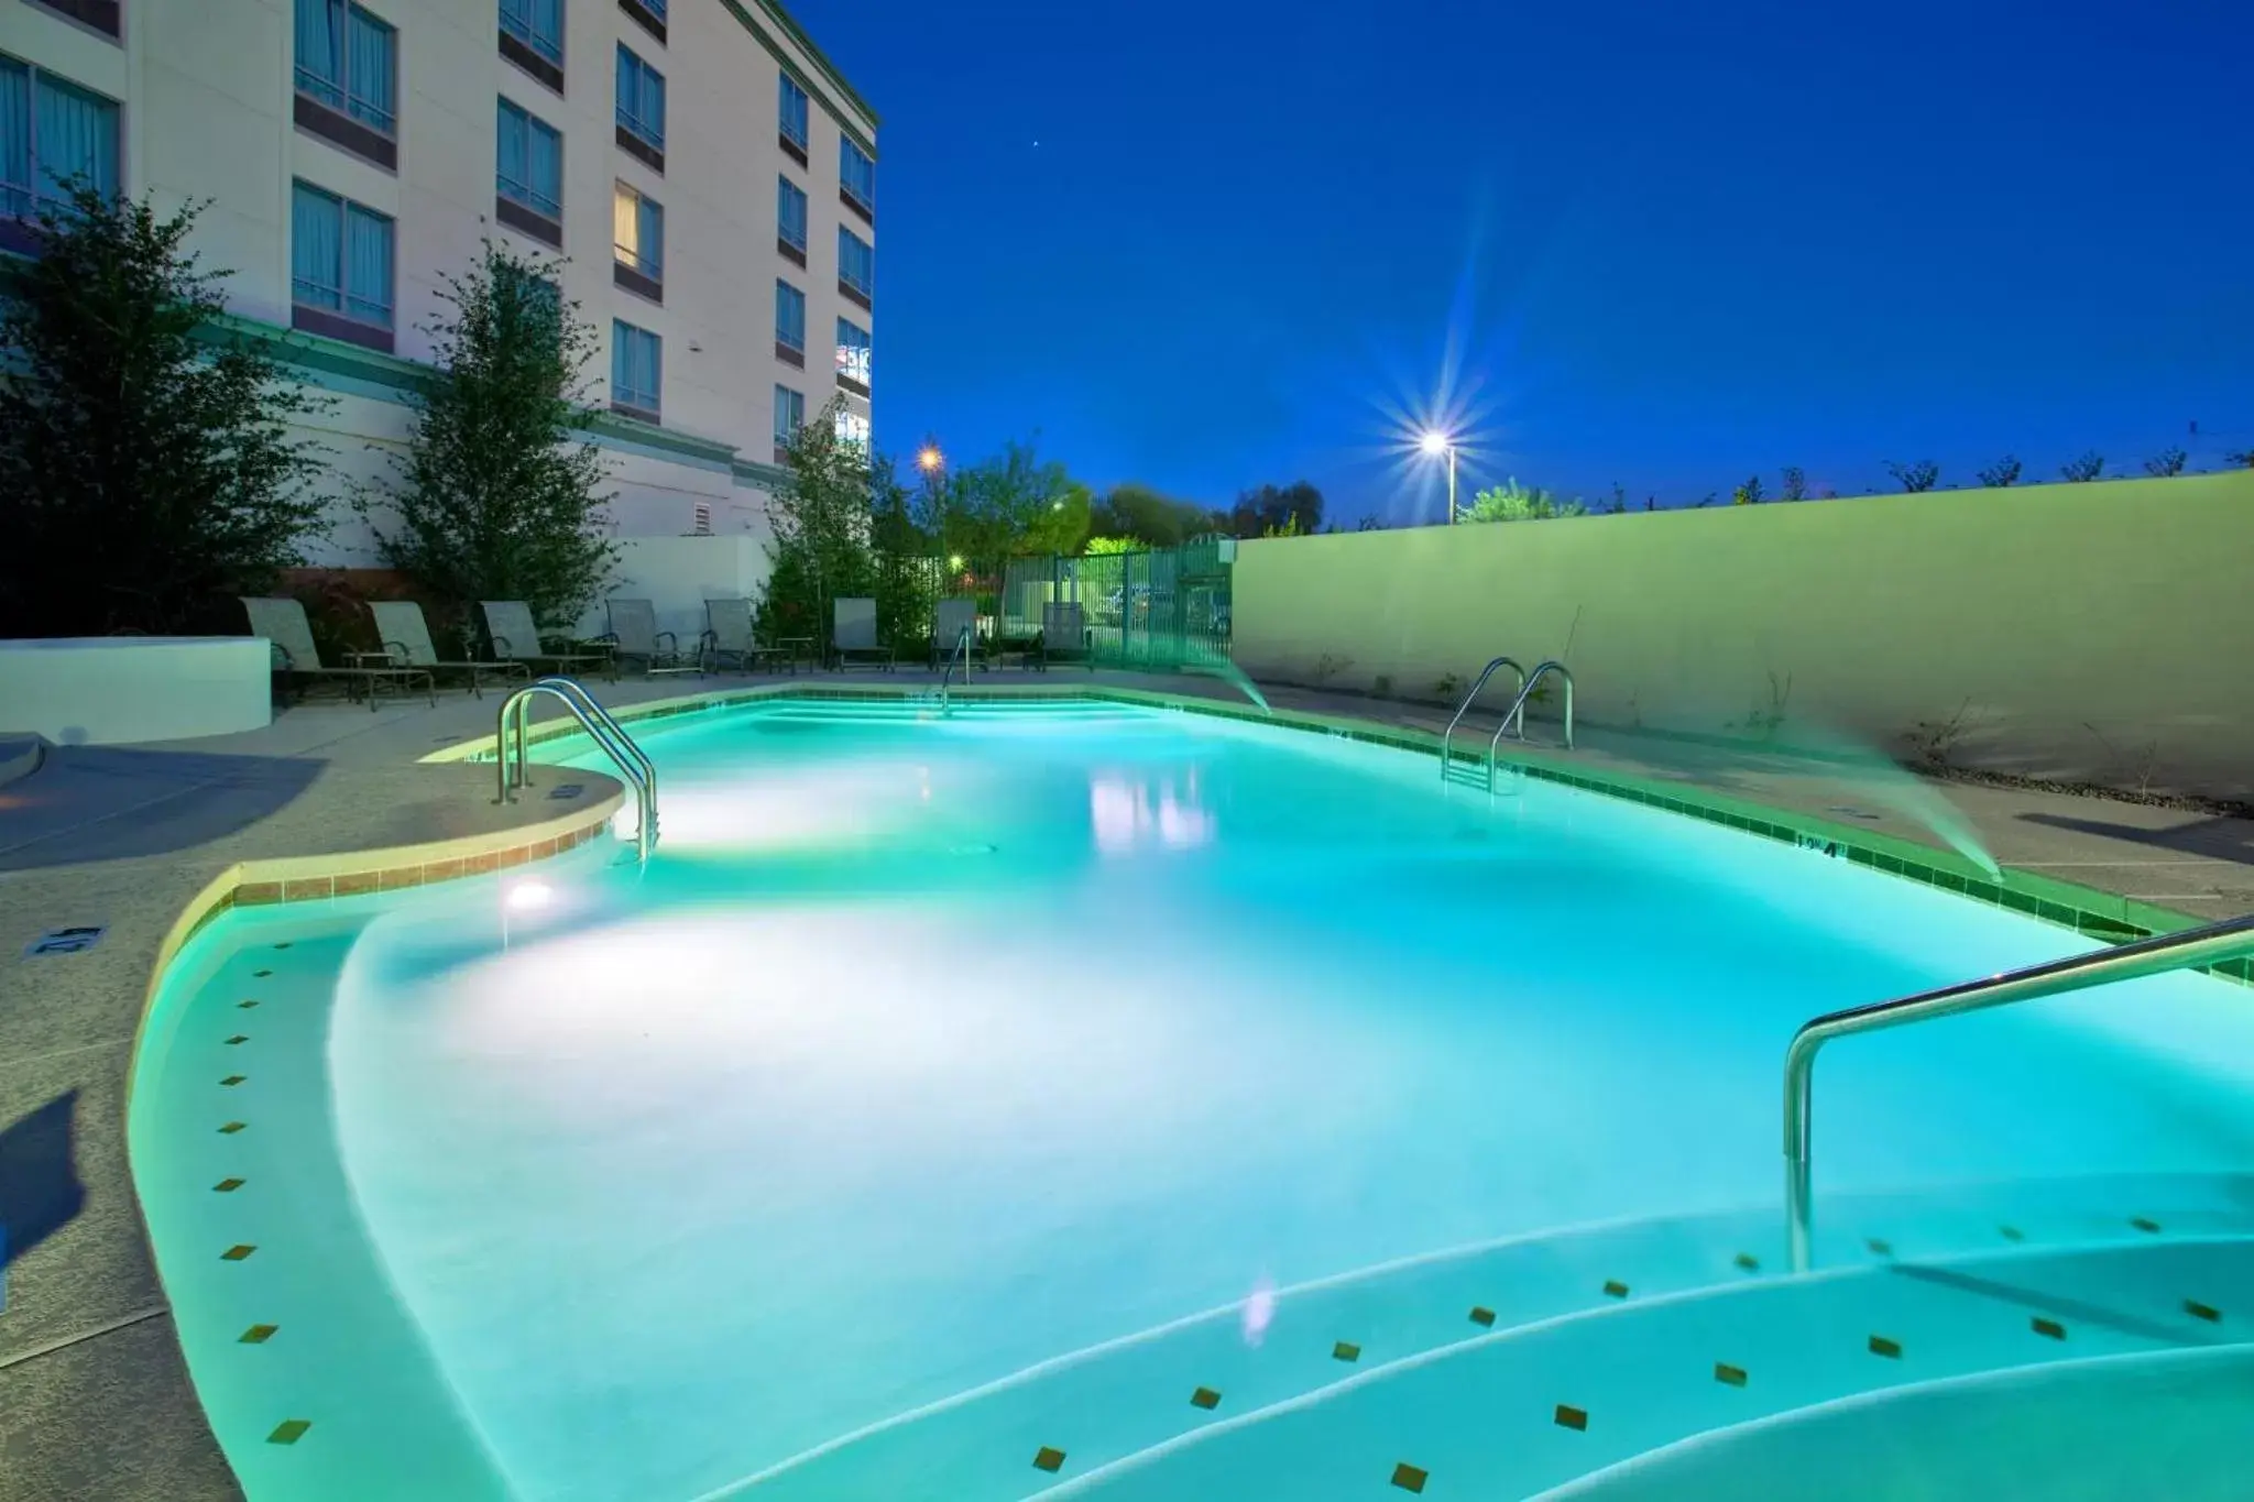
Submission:
<svg viewBox="0 0 2254 1502">
<path fill-rule="evenodd" d="M 890 691 L 929 687 L 931 678 L 588 687 L 602 703 L 629 707 L 746 682 Z M 985 673 L 976 687 L 1080 685 L 1237 698 L 1210 678 L 1080 669 Z M 1429 705 L 1305 689 L 1269 696 L 1278 709 L 1418 734 L 1447 723 L 1447 712 Z M 480 840 L 491 849 L 512 831 L 530 840 L 554 824 L 557 804 L 545 799 L 496 806 L 491 766 L 419 763 L 442 745 L 489 736 L 496 709 L 498 696 L 464 694 L 444 694 L 437 707 L 415 700 L 376 712 L 307 705 L 232 736 L 50 750 L 36 772 L 0 784 L 0 1218 L 18 1236 L 5 1252 L 0 1306 L 0 1502 L 239 1495 L 187 1380 L 126 1164 L 128 1063 L 151 975 L 183 910 L 239 867 L 243 889 L 257 889 L 241 901 L 273 901 L 298 892 L 264 892 L 279 883 L 257 880 L 257 862 L 401 847 L 460 851 Z M 1938 847 L 1880 802 L 1869 779 L 1842 777 L 1835 766 L 1594 727 L 1580 732 L 1580 750 L 1546 752 L 1539 739 L 1551 727 L 1533 734 L 1537 745 L 1519 754 L 1544 766 L 1672 784 Z M 595 775 L 586 781 L 591 813 L 618 793 Z M 2006 867 L 2195 919 L 2254 910 L 2254 822 L 2038 788 L 1934 786 Z M 471 869 L 460 856 L 421 860 L 444 867 L 433 878 Z M 41 935 L 74 926 L 101 926 L 104 935 L 83 953 L 27 955 Z"/>
</svg>

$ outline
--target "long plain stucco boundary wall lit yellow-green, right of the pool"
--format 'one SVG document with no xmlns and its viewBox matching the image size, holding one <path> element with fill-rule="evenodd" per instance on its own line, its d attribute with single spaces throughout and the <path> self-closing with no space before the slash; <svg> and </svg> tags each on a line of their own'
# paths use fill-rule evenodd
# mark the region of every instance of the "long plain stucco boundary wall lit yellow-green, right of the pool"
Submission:
<svg viewBox="0 0 2254 1502">
<path fill-rule="evenodd" d="M 1260 680 L 2254 799 L 2254 471 L 1246 540 L 1233 615 Z"/>
</svg>

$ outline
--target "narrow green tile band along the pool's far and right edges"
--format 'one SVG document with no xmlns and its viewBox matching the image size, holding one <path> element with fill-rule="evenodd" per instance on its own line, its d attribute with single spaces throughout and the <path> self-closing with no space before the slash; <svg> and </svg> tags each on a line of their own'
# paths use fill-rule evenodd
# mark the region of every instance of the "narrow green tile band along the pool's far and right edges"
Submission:
<svg viewBox="0 0 2254 1502">
<path fill-rule="evenodd" d="M 757 685 L 744 689 L 719 689 L 706 694 L 687 694 L 681 698 L 651 700 L 645 705 L 629 705 L 615 709 L 620 723 L 631 725 L 638 721 L 660 721 L 676 718 L 685 714 L 715 714 L 721 709 L 737 709 L 746 705 L 760 705 L 769 700 L 913 700 L 929 696 L 931 689 L 911 687 L 886 687 L 886 685 Z M 1080 698 L 1080 700 L 1109 700 L 1122 705 L 1143 705 L 1154 709 L 1174 709 L 1186 714 L 1208 714 L 1215 718 L 1246 721 L 1253 725 L 1287 725 L 1294 730 L 1323 732 L 1350 741 L 1364 741 L 1370 745 L 1386 745 L 1393 750 L 1409 750 L 1427 757 L 1440 754 L 1440 736 L 1429 730 L 1411 730 L 1402 725 L 1379 725 L 1373 721 L 1359 721 L 1348 716 L 1312 714 L 1305 709 L 1274 709 L 1262 714 L 1253 705 L 1233 705 L 1217 698 L 1201 698 L 1195 694 L 1161 694 L 1152 689 L 1129 689 L 1120 685 L 1100 682 L 1017 682 L 1017 685 L 967 685 L 958 689 L 962 698 L 985 698 L 985 700 L 1010 700 L 1010 698 Z M 577 723 L 568 718 L 554 718 L 536 725 L 532 730 L 534 741 L 548 741 L 554 736 L 577 734 Z M 491 736 L 480 736 L 476 741 L 462 741 L 458 745 L 440 748 L 424 757 L 424 761 L 469 761 L 478 757 L 489 757 L 494 748 Z M 1968 896 L 1977 903 L 1988 903 L 1990 908 L 2008 908 L 2044 923 L 2056 923 L 2060 928 L 2071 928 L 2078 935 L 2098 939 L 2103 944 L 2128 944 L 2132 939 L 2148 939 L 2153 935 L 2177 932 L 2184 928 L 2195 928 L 2200 919 L 2193 919 L 2155 903 L 2141 903 L 2137 898 L 2117 896 L 2112 892 L 2101 892 L 2096 887 L 2083 887 L 2078 883 L 2058 880 L 2051 876 L 2035 876 L 2033 871 L 2006 869 L 2004 880 L 1993 880 L 1986 871 L 1975 867 L 1961 856 L 1947 851 L 1934 851 L 1911 840 L 1898 840 L 1869 829 L 1851 829 L 1846 824 L 1835 824 L 1808 813 L 1792 813 L 1783 808 L 1769 808 L 1765 804 L 1754 804 L 1745 799 L 1733 799 L 1720 793 L 1706 790 L 1684 790 L 1677 784 L 1661 784 L 1643 777 L 1632 777 L 1627 772 L 1585 772 L 1560 766 L 1558 761 L 1564 752 L 1544 754 L 1539 750 L 1515 748 L 1503 766 L 1519 770 L 1528 777 L 1542 781 L 1580 788 L 1585 793 L 1598 793 L 1605 797 L 1623 797 L 1627 802 L 1648 804 L 1652 808 L 1663 808 L 1668 813 L 1681 813 L 1686 817 L 1704 820 L 1709 824 L 1724 824 L 1745 833 L 1763 835 L 1769 840 L 1781 840 L 1785 844 L 1817 849 L 1837 860 L 1851 860 L 1889 876 L 1905 876 L 1909 880 L 1923 883 L 1927 887 L 1938 887 L 1943 892 L 1954 892 L 1956 896 Z M 2209 975 L 2220 975 L 2225 980 L 2236 980 L 2240 984 L 2254 984 L 2254 959 L 2234 959 L 2220 966 L 2207 966 Z"/>
</svg>

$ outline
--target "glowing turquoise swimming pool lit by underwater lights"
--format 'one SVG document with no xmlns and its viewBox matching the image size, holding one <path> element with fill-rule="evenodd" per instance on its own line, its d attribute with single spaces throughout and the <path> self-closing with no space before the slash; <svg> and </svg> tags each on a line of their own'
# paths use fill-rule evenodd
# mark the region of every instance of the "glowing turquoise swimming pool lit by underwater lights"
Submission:
<svg viewBox="0 0 2254 1502">
<path fill-rule="evenodd" d="M 1778 1279 L 1792 1029 L 2085 939 L 1210 716 L 778 700 L 638 739 L 647 869 L 239 910 L 167 975 L 135 1182 L 252 1497 L 1528 1495 L 1776 1410 L 1823 1311 L 1932 1338 L 1855 1335 L 1776 1412 L 2051 1356 L 1918 1365 L 1977 1320 L 1871 1281 L 1911 1257 L 2177 1317 L 2074 1356 L 2247 1340 L 2245 989 L 1830 1049 L 1828 1270 Z M 1754 1383 L 1715 1351 L 1697 1394 L 1512 1396 L 1715 1344 L 1713 1288 L 1769 1299 Z M 1409 1432 L 1449 1412 L 1485 1448 Z"/>
</svg>

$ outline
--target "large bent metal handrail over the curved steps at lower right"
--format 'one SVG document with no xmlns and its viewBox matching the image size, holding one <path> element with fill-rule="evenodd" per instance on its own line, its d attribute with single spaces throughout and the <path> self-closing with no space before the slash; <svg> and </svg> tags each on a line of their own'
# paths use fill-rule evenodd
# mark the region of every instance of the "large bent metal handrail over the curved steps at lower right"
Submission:
<svg viewBox="0 0 2254 1502">
<path fill-rule="evenodd" d="M 1981 980 L 1920 991 L 1918 995 L 1902 995 L 1891 1002 L 1848 1007 L 1801 1027 L 1801 1031 L 1792 1034 L 1792 1047 L 1785 1049 L 1785 1223 L 1792 1241 L 1792 1270 L 1808 1270 L 1808 1243 L 1812 1236 L 1810 1180 L 1814 1178 L 1808 1142 L 1817 1049 L 1826 1043 L 1846 1034 L 1871 1034 L 1882 1027 L 1954 1018 L 1968 1011 L 2033 1002 L 2044 995 L 2105 986 L 2119 980 L 2189 971 L 2240 955 L 2254 955 L 2254 917 L 2204 923 L 2087 955 L 2051 959 L 2049 964 L 2031 964 L 2022 971 L 1984 975 Z"/>
</svg>

